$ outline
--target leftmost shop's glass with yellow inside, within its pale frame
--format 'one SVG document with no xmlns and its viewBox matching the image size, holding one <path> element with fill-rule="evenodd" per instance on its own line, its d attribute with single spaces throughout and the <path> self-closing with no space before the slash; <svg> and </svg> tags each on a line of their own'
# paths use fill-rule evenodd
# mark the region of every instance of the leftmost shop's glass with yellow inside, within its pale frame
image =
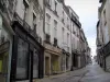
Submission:
<svg viewBox="0 0 110 82">
<path fill-rule="evenodd" d="M 7 82 L 10 39 L 0 16 L 0 82 Z"/>
</svg>

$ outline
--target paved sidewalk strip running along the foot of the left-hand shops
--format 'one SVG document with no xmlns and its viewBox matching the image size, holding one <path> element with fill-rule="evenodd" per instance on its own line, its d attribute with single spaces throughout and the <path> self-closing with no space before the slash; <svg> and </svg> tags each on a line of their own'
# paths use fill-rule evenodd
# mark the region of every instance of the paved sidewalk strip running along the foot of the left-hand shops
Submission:
<svg viewBox="0 0 110 82">
<path fill-rule="evenodd" d="M 57 75 L 51 75 L 51 77 L 46 77 L 44 79 L 37 79 L 33 82 L 62 82 L 65 81 L 66 79 L 69 79 L 70 77 L 77 77 L 77 75 L 81 75 L 82 73 L 85 73 L 87 70 L 85 68 L 82 69 L 78 69 L 78 70 L 74 70 L 74 71 L 68 71 L 62 74 L 57 74 Z"/>
</svg>

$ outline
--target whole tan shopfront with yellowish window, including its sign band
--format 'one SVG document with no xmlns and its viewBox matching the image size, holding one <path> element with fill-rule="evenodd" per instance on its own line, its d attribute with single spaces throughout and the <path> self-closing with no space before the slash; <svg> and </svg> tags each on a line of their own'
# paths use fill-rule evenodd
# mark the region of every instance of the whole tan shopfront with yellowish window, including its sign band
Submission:
<svg viewBox="0 0 110 82">
<path fill-rule="evenodd" d="M 53 75 L 61 73 L 61 55 L 62 50 L 50 44 L 44 43 L 44 74 Z"/>
</svg>

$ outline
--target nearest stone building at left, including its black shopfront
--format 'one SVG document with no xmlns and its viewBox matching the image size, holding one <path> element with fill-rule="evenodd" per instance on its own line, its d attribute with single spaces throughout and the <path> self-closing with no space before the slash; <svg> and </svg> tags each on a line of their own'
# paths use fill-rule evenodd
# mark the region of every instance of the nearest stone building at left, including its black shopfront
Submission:
<svg viewBox="0 0 110 82">
<path fill-rule="evenodd" d="M 0 0 L 0 82 L 43 78 L 43 0 Z"/>
</svg>

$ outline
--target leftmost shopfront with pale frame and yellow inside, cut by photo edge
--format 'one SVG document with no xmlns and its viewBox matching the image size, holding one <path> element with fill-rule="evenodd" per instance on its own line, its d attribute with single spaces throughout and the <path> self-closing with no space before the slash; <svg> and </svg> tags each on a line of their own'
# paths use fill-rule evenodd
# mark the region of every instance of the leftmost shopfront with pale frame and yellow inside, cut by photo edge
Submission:
<svg viewBox="0 0 110 82">
<path fill-rule="evenodd" d="M 11 27 L 0 12 L 0 82 L 9 82 L 12 55 Z"/>
</svg>

